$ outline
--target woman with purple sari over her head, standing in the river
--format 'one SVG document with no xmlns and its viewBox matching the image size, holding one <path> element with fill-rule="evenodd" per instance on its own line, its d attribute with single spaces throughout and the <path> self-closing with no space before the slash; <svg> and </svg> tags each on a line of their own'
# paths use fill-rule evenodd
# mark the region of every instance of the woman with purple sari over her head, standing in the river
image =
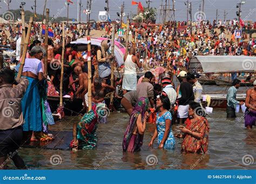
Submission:
<svg viewBox="0 0 256 184">
<path fill-rule="evenodd" d="M 142 147 L 144 131 L 146 129 L 146 121 L 149 113 L 146 112 L 149 107 L 149 100 L 140 97 L 137 104 L 132 110 L 130 122 L 124 133 L 123 151 L 139 151 Z"/>
</svg>

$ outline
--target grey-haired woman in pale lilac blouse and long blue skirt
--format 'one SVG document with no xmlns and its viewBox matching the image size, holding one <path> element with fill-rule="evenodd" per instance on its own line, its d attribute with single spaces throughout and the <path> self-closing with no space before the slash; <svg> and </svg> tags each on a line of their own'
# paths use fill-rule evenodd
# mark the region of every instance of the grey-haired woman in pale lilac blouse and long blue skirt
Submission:
<svg viewBox="0 0 256 184">
<path fill-rule="evenodd" d="M 25 122 L 23 131 L 33 131 L 31 141 L 37 141 L 41 138 L 41 140 L 45 140 L 47 135 L 43 135 L 42 131 L 44 130 L 45 133 L 48 134 L 48 130 L 45 126 L 49 120 L 52 122 L 51 117 L 48 116 L 50 109 L 45 108 L 49 107 L 49 105 L 44 104 L 45 96 L 41 96 L 45 93 L 44 91 L 39 92 L 39 86 L 44 86 L 45 81 L 41 62 L 44 53 L 43 47 L 34 46 L 30 52 L 30 58 L 26 58 L 25 60 L 22 72 L 22 76 L 29 80 L 29 86 L 22 98 L 22 112 Z"/>
</svg>

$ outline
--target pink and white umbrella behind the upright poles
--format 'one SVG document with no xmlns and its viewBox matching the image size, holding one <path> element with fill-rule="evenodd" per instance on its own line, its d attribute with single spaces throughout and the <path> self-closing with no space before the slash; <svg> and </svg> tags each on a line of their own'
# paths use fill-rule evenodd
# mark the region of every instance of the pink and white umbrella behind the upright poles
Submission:
<svg viewBox="0 0 256 184">
<path fill-rule="evenodd" d="M 102 41 L 106 39 L 107 38 L 103 38 L 103 37 L 91 38 L 91 45 L 100 46 L 102 44 Z M 110 39 L 107 39 L 107 40 L 110 40 Z M 87 38 L 77 39 L 76 41 L 72 41 L 71 44 L 87 45 Z M 116 57 L 116 61 L 119 67 L 124 64 L 125 51 L 126 51 L 125 46 L 123 44 L 119 43 L 118 41 L 114 41 L 114 56 Z"/>
</svg>

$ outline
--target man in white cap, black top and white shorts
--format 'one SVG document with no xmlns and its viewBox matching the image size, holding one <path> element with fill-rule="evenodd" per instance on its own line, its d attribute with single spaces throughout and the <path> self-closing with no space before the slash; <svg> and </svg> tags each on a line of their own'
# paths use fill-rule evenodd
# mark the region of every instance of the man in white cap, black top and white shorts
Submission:
<svg viewBox="0 0 256 184">
<path fill-rule="evenodd" d="M 194 101 L 193 87 L 191 83 L 187 82 L 187 73 L 181 71 L 177 76 L 180 82 L 180 87 L 177 89 L 178 93 L 178 111 L 177 123 L 184 123 L 188 117 L 188 102 Z"/>
</svg>

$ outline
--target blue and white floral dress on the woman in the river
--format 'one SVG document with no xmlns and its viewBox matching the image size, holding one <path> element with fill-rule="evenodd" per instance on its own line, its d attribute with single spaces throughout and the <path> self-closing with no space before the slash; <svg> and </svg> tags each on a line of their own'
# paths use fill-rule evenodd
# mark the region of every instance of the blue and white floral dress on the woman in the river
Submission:
<svg viewBox="0 0 256 184">
<path fill-rule="evenodd" d="M 171 112 L 169 111 L 166 111 L 163 115 L 159 116 L 159 112 L 157 113 L 157 132 L 158 132 L 158 145 L 160 145 L 161 143 L 161 140 L 163 139 L 164 137 L 164 133 L 166 131 L 166 125 L 165 125 L 165 121 L 166 119 L 170 119 L 172 120 L 172 115 L 171 115 Z M 175 147 L 175 139 L 174 139 L 174 136 L 173 136 L 173 133 L 172 133 L 172 129 L 170 128 L 170 131 L 169 131 L 169 134 L 168 134 L 168 137 L 167 139 L 165 140 L 165 143 L 164 143 L 164 148 L 165 149 L 174 149 Z"/>
</svg>

